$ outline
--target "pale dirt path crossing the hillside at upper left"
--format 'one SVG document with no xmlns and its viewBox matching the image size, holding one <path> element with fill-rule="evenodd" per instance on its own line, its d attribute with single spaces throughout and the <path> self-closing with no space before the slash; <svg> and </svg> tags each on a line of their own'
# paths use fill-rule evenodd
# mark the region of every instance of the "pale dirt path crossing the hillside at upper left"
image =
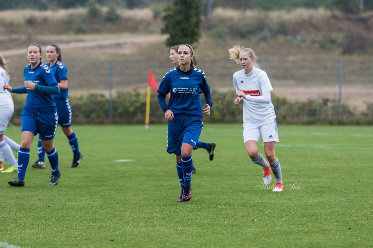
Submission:
<svg viewBox="0 0 373 248">
<path fill-rule="evenodd" d="M 120 45 L 124 43 L 140 43 L 140 42 L 159 42 L 164 41 L 167 38 L 167 35 L 142 35 L 142 36 L 131 36 L 118 39 L 107 39 L 100 41 L 80 41 L 80 42 L 69 42 L 69 43 L 60 43 L 59 46 L 62 49 L 68 48 L 85 48 L 90 46 L 106 46 L 106 45 Z M 25 48 L 12 49 L 0 51 L 0 54 L 3 56 L 11 56 L 24 54 Z"/>
</svg>

